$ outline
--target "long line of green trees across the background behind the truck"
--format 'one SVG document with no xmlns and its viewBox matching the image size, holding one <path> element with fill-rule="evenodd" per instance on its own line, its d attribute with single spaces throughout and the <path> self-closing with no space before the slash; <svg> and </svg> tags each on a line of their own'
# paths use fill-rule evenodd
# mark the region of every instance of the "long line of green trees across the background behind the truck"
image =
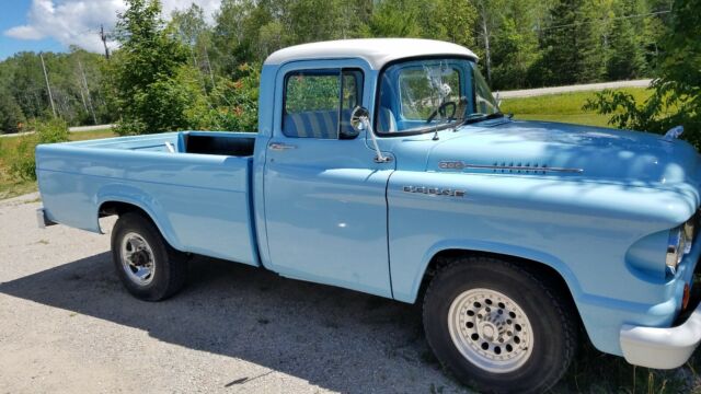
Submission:
<svg viewBox="0 0 701 394">
<path fill-rule="evenodd" d="M 424 37 L 471 48 L 494 90 L 647 77 L 673 0 L 223 0 L 165 21 L 127 0 L 111 59 L 21 53 L 0 62 L 0 129 L 60 117 L 120 134 L 255 127 L 260 63 L 295 44 Z M 47 83 L 48 80 L 48 83 Z M 48 84 L 48 86 L 47 86 Z M 49 93 L 50 91 L 50 93 Z M 51 104 L 53 102 L 53 104 Z"/>
</svg>

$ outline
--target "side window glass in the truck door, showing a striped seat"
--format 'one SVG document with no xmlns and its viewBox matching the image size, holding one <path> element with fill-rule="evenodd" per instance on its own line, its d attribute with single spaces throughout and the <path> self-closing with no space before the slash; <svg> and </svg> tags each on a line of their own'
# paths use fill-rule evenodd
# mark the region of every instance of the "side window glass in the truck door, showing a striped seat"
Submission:
<svg viewBox="0 0 701 394">
<path fill-rule="evenodd" d="M 296 138 L 353 137 L 350 112 L 360 105 L 360 70 L 308 70 L 287 74 L 283 134 Z"/>
</svg>

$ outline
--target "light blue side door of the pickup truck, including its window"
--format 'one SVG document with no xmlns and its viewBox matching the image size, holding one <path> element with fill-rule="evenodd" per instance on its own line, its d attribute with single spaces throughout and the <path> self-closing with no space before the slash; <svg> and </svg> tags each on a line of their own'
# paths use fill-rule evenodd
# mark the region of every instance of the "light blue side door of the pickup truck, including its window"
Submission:
<svg viewBox="0 0 701 394">
<path fill-rule="evenodd" d="M 348 62 L 299 61 L 276 77 L 264 170 L 271 268 L 391 297 L 386 188 L 393 163 L 376 163 L 365 134 L 349 126 L 350 111 L 371 94 L 364 63 Z"/>
</svg>

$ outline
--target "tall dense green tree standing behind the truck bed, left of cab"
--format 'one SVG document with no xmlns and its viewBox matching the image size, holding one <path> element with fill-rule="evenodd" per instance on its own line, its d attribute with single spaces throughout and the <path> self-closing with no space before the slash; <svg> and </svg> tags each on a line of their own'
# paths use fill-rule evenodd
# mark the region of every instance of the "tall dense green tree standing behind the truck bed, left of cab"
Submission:
<svg viewBox="0 0 701 394">
<path fill-rule="evenodd" d="M 122 115 L 116 132 L 185 128 L 184 111 L 197 92 L 192 74 L 183 70 L 187 49 L 172 28 L 165 28 L 160 1 L 127 0 L 116 37 L 122 44 L 111 65 L 113 100 Z"/>
</svg>

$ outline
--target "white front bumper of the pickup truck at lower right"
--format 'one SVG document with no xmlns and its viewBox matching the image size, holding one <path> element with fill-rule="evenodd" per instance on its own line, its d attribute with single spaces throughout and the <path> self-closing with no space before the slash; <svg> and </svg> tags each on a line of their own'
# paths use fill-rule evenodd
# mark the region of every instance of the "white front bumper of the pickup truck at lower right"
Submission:
<svg viewBox="0 0 701 394">
<path fill-rule="evenodd" d="M 620 334 L 625 361 L 641 367 L 683 366 L 701 341 L 701 303 L 681 325 L 669 328 L 623 325 Z"/>
</svg>

